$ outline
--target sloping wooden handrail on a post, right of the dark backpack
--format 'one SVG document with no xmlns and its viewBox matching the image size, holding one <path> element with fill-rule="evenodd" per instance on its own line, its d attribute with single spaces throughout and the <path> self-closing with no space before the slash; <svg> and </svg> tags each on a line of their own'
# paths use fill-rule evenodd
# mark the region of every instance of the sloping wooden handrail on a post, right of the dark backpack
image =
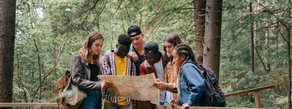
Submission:
<svg viewBox="0 0 292 109">
<path fill-rule="evenodd" d="M 224 96 L 225 97 L 236 96 L 236 95 L 240 95 L 240 94 L 244 94 L 244 93 L 251 93 L 251 92 L 260 91 L 260 90 L 273 88 L 273 87 L 275 87 L 275 85 L 270 85 L 270 86 L 264 86 L 264 87 L 258 87 L 258 88 L 252 88 L 252 89 L 248 89 L 248 90 L 238 91 L 238 92 L 227 93 L 227 94 L 224 94 Z"/>
</svg>

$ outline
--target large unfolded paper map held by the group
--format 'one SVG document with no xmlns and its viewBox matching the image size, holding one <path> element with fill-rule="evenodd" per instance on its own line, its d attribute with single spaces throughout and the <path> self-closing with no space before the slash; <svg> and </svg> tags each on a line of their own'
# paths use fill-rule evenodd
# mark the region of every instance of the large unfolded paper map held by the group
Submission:
<svg viewBox="0 0 292 109">
<path fill-rule="evenodd" d="M 159 89 L 152 86 L 157 82 L 154 73 L 143 76 L 98 75 L 97 77 L 114 85 L 108 88 L 109 95 L 112 97 L 128 97 L 159 105 Z"/>
</svg>

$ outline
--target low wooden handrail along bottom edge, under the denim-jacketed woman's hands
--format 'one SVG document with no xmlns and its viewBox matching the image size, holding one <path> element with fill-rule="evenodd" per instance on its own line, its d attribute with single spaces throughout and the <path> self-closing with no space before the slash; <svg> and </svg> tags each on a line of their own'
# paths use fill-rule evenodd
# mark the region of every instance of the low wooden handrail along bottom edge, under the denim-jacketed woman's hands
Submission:
<svg viewBox="0 0 292 109">
<path fill-rule="evenodd" d="M 182 106 L 156 105 L 155 109 L 181 109 Z M 189 109 L 259 109 L 259 108 L 226 108 L 226 107 L 195 107 L 190 106 Z"/>
</svg>

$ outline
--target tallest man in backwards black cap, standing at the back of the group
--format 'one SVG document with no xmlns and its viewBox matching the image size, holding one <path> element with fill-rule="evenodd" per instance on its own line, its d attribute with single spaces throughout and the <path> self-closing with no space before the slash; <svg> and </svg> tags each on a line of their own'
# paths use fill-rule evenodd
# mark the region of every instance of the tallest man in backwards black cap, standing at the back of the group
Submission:
<svg viewBox="0 0 292 109">
<path fill-rule="evenodd" d="M 144 44 L 146 43 L 143 38 L 144 34 L 141 32 L 140 28 L 136 25 L 132 25 L 128 28 L 128 35 L 130 35 L 132 43 L 130 47 L 130 52 L 128 53 L 129 57 L 132 57 L 135 61 L 135 69 L 136 75 L 138 76 L 140 74 L 140 64 L 145 61 L 144 56 Z M 113 49 L 116 51 L 117 49 Z M 107 50 L 105 52 L 105 55 L 108 54 L 111 50 Z"/>
</svg>

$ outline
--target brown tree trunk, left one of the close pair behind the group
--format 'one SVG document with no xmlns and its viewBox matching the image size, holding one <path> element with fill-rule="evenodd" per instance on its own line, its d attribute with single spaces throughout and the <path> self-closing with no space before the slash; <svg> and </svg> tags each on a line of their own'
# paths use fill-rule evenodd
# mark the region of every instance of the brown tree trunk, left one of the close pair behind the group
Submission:
<svg viewBox="0 0 292 109">
<path fill-rule="evenodd" d="M 205 9 L 206 1 L 194 0 L 194 8 Z M 196 62 L 203 64 L 203 52 L 204 52 L 204 35 L 205 35 L 205 17 L 206 12 L 195 9 L 194 20 L 195 20 L 195 42 L 196 42 Z"/>
</svg>

